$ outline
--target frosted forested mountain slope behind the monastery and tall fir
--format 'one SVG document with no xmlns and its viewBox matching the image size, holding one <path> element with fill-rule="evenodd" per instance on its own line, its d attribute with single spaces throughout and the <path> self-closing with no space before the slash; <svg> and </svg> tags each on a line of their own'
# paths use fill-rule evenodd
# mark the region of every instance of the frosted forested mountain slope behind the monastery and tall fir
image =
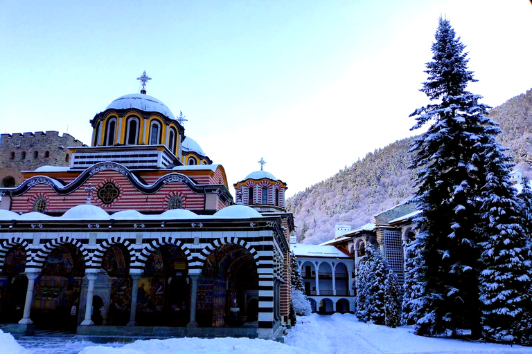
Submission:
<svg viewBox="0 0 532 354">
<path fill-rule="evenodd" d="M 490 111 L 501 124 L 502 145 L 510 147 L 520 169 L 532 164 L 532 89 Z M 321 243 L 334 238 L 335 224 L 357 227 L 374 214 L 405 201 L 414 194 L 410 162 L 411 138 L 368 153 L 362 160 L 339 171 L 287 200 L 294 213 L 299 241 Z"/>
</svg>

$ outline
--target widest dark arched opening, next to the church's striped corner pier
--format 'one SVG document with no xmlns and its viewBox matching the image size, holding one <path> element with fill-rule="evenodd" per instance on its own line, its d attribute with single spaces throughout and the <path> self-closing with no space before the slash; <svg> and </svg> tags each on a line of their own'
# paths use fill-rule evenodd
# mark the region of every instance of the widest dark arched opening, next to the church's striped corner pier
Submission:
<svg viewBox="0 0 532 354">
<path fill-rule="evenodd" d="M 239 326 L 257 321 L 258 301 L 256 305 L 251 302 L 258 295 L 257 267 L 253 255 L 242 246 L 222 245 L 209 254 L 197 289 L 199 326 Z M 238 308 L 238 312 L 231 308 Z"/>
</svg>

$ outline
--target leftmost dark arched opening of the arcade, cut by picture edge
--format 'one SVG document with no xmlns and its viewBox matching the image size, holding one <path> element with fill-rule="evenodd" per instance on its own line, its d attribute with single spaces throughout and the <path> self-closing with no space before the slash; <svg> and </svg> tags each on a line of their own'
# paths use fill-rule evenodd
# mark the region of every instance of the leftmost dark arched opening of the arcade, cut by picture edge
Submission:
<svg viewBox="0 0 532 354">
<path fill-rule="evenodd" d="M 0 322 L 17 323 L 24 313 L 24 301 L 28 278 L 23 274 L 26 268 L 26 250 L 21 245 L 10 248 L 0 273 Z"/>
</svg>

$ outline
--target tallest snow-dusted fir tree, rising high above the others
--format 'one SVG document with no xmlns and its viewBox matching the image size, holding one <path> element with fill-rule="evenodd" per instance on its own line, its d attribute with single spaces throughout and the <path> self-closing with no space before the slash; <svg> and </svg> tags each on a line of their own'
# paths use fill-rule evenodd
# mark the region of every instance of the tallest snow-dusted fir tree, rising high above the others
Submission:
<svg viewBox="0 0 532 354">
<path fill-rule="evenodd" d="M 420 90 L 435 103 L 416 109 L 418 129 L 411 168 L 418 169 L 414 197 L 426 229 L 418 235 L 423 266 L 416 277 L 424 284 L 418 301 L 420 317 L 414 331 L 435 335 L 447 329 L 470 328 L 480 335 L 479 258 L 477 245 L 481 187 L 486 183 L 482 141 L 494 136 L 497 123 L 479 95 L 466 91 L 475 82 L 468 71 L 468 53 L 447 19 L 439 19 L 427 63 L 427 82 Z"/>
</svg>

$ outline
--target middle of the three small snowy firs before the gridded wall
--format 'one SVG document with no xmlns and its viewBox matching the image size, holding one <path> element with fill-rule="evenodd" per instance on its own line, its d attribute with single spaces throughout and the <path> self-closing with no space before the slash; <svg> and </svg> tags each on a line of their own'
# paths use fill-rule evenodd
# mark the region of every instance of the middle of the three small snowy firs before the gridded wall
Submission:
<svg viewBox="0 0 532 354">
<path fill-rule="evenodd" d="M 371 277 L 369 295 L 367 301 L 367 311 L 369 319 L 374 324 L 386 323 L 386 279 L 389 272 L 389 266 L 381 252 L 375 251 L 375 257 L 371 264 Z"/>
</svg>

